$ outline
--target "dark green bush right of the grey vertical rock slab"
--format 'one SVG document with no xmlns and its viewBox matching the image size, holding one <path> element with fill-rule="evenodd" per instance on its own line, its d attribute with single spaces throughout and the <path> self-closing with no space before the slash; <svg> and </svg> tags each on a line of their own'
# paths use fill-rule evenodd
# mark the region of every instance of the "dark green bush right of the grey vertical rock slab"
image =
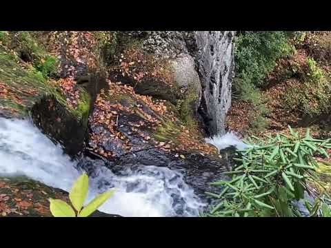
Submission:
<svg viewBox="0 0 331 248">
<path fill-rule="evenodd" d="M 294 47 L 288 42 L 287 32 L 244 32 L 235 43 L 235 78 L 232 92 L 235 99 L 252 103 L 254 111 L 265 109 L 265 99 L 259 87 L 265 84 L 265 76 L 274 70 L 277 59 L 289 56 Z M 261 132 L 268 122 L 261 114 L 252 119 L 253 130 Z"/>
</svg>

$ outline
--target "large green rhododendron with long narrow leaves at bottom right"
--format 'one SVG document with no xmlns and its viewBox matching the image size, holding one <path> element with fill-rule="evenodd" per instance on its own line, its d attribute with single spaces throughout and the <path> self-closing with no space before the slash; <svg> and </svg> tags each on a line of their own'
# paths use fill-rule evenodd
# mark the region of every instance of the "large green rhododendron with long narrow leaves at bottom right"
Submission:
<svg viewBox="0 0 331 248">
<path fill-rule="evenodd" d="M 221 191 L 206 192 L 218 203 L 203 216 L 301 216 L 293 202 L 303 199 L 309 181 L 317 182 L 314 155 L 328 157 L 325 149 L 331 148 L 331 139 L 312 138 L 309 129 L 305 136 L 289 129 L 290 136 L 245 141 L 249 147 L 238 152 L 234 169 L 224 173 L 231 179 L 210 183 Z M 318 215 L 330 213 L 323 205 L 325 196 L 315 207 Z"/>
</svg>

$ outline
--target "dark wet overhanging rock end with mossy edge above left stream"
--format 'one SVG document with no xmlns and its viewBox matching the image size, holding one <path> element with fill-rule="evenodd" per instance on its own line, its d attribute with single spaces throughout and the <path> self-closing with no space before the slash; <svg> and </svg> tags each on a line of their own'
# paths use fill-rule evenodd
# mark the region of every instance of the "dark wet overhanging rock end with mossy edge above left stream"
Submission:
<svg viewBox="0 0 331 248">
<path fill-rule="evenodd" d="M 50 95 L 44 96 L 31 110 L 34 124 L 52 141 L 60 143 L 64 152 L 72 157 L 83 151 L 88 138 L 88 117 L 94 101 L 101 89 L 107 89 L 108 86 L 100 74 L 84 76 L 79 83 L 77 107 L 63 105 L 56 96 Z"/>
</svg>

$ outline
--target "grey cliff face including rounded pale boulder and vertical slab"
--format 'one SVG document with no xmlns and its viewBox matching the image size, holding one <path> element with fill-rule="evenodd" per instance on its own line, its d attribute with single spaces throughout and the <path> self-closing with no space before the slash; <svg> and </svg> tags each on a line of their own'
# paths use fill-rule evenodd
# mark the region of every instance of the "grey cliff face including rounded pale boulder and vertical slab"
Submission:
<svg viewBox="0 0 331 248">
<path fill-rule="evenodd" d="M 231 105 L 234 31 L 123 32 L 123 35 L 140 39 L 146 52 L 171 61 L 174 83 L 180 89 L 194 88 L 192 109 L 195 107 L 196 113 L 199 108 L 205 129 L 209 134 L 224 133 L 225 116 Z"/>
</svg>

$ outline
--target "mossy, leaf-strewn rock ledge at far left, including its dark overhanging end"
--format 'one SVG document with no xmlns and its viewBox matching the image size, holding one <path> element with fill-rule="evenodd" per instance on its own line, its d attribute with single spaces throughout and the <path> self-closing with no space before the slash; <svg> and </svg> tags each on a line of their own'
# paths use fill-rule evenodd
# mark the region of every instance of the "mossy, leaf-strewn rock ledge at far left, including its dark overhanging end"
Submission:
<svg viewBox="0 0 331 248">
<path fill-rule="evenodd" d="M 106 72 L 88 68 L 73 81 L 72 104 L 59 82 L 61 63 L 46 50 L 35 32 L 0 34 L 0 116 L 27 118 L 64 151 L 75 156 L 88 134 L 88 116 L 101 89 L 107 89 Z M 66 70 L 66 68 L 64 68 Z"/>
</svg>

